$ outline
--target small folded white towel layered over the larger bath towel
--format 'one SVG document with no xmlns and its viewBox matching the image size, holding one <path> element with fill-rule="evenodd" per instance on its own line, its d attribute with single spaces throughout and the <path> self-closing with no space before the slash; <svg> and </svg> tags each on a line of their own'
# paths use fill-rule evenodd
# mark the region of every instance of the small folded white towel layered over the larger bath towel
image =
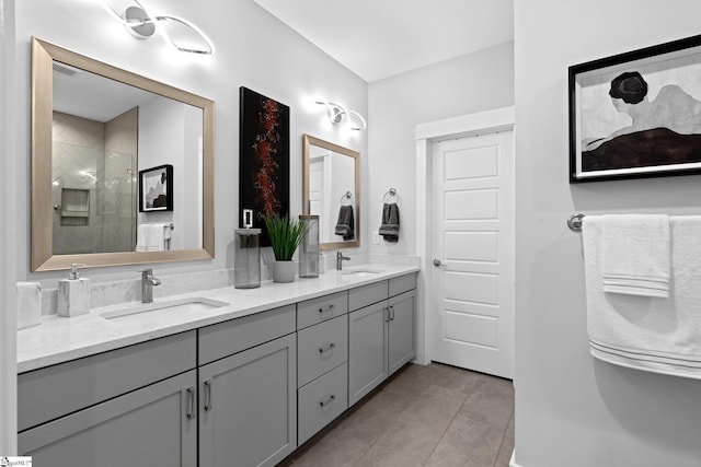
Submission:
<svg viewBox="0 0 701 467">
<path fill-rule="evenodd" d="M 602 215 L 604 291 L 669 296 L 669 217 Z"/>
</svg>

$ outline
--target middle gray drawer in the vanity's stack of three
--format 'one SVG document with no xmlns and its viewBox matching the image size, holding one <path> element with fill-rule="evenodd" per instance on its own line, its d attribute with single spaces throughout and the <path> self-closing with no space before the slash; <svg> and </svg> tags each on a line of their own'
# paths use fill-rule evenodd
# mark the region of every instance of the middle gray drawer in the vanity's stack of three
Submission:
<svg viewBox="0 0 701 467">
<path fill-rule="evenodd" d="M 326 373 L 348 360 L 346 315 L 297 332 L 297 386 Z"/>
</svg>

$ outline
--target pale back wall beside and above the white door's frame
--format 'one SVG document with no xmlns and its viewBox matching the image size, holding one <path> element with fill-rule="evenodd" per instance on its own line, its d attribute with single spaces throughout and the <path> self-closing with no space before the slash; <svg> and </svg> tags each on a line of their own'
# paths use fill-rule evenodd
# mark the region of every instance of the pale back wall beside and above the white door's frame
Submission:
<svg viewBox="0 0 701 467">
<path fill-rule="evenodd" d="M 363 235 L 382 219 L 382 196 L 397 188 L 398 243 L 370 244 L 377 254 L 416 254 L 416 125 L 514 105 L 514 44 L 443 61 L 369 86 L 369 203 Z M 365 154 L 363 154 L 365 155 Z M 367 175 L 364 174 L 367 177 Z"/>
</svg>

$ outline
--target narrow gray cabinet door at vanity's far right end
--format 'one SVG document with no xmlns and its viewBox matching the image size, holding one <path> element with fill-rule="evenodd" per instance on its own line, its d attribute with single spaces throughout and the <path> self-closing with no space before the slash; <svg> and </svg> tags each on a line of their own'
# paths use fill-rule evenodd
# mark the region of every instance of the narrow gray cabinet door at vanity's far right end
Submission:
<svg viewBox="0 0 701 467">
<path fill-rule="evenodd" d="M 390 374 L 416 357 L 415 291 L 393 296 L 389 301 L 389 367 Z"/>
</svg>

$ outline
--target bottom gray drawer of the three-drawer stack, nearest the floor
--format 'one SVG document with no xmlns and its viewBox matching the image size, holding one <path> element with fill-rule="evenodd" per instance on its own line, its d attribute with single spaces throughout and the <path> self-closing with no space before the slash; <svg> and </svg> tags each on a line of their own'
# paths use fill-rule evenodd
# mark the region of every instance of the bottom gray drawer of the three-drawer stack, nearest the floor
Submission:
<svg viewBox="0 0 701 467">
<path fill-rule="evenodd" d="M 337 366 L 298 392 L 298 445 L 348 408 L 348 366 Z"/>
</svg>

